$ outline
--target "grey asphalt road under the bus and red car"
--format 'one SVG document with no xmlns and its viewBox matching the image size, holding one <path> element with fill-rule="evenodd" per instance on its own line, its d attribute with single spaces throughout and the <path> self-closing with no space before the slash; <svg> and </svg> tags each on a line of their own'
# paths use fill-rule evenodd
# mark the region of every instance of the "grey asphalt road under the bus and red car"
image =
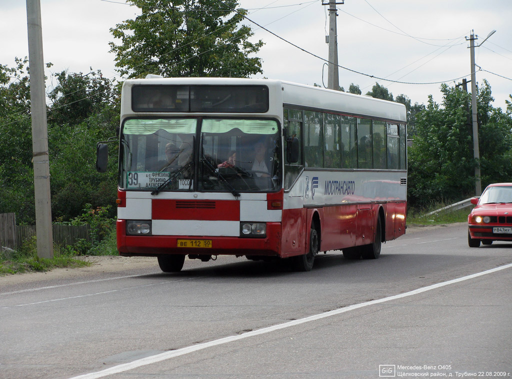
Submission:
<svg viewBox="0 0 512 379">
<path fill-rule="evenodd" d="M 426 228 L 309 273 L 221 256 L 2 286 L 0 378 L 511 377 L 511 315 L 512 244 Z"/>
</svg>

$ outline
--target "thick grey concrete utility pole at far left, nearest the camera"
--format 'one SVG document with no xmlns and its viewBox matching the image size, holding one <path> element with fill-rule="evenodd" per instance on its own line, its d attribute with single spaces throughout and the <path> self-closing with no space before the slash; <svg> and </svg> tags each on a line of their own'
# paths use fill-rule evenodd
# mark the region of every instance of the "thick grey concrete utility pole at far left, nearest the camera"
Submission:
<svg viewBox="0 0 512 379">
<path fill-rule="evenodd" d="M 45 64 L 42 57 L 41 5 L 39 0 L 27 0 L 27 28 L 37 256 L 40 258 L 53 258 Z"/>
</svg>

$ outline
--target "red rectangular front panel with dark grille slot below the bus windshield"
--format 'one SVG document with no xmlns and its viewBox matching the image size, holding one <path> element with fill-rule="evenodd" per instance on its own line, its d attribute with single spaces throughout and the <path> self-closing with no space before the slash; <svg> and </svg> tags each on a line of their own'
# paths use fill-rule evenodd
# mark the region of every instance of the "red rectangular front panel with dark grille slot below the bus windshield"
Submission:
<svg viewBox="0 0 512 379">
<path fill-rule="evenodd" d="M 240 221 L 237 200 L 173 200 L 153 199 L 154 220 Z"/>
</svg>

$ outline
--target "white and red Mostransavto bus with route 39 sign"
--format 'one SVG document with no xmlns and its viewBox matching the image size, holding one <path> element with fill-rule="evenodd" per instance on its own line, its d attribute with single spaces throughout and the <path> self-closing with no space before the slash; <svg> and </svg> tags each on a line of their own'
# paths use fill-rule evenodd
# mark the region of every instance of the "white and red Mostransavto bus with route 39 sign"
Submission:
<svg viewBox="0 0 512 379">
<path fill-rule="evenodd" d="M 405 233 L 406 141 L 406 108 L 367 96 L 266 79 L 126 80 L 119 253 L 156 256 L 164 272 L 185 256 L 289 258 L 298 271 L 330 250 L 375 259 Z"/>
</svg>

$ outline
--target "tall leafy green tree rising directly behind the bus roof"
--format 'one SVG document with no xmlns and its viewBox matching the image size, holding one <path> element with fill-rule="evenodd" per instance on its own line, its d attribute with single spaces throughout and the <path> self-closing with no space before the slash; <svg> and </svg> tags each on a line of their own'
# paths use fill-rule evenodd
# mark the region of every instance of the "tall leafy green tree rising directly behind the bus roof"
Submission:
<svg viewBox="0 0 512 379">
<path fill-rule="evenodd" d="M 141 9 L 135 19 L 111 28 L 120 44 L 110 42 L 122 76 L 248 77 L 262 73 L 251 28 L 240 26 L 236 0 L 129 0 Z"/>
</svg>

